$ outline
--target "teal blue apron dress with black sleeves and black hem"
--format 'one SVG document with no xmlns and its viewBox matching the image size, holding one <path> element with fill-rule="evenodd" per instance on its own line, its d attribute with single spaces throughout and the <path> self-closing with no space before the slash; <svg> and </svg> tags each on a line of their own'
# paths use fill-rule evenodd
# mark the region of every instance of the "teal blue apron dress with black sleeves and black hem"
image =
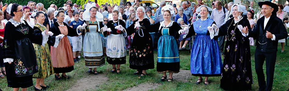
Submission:
<svg viewBox="0 0 289 91">
<path fill-rule="evenodd" d="M 179 72 L 179 49 L 178 42 L 179 33 L 182 29 L 179 24 L 171 21 L 165 26 L 164 22 L 153 25 L 152 32 L 160 32 L 162 34 L 158 39 L 158 61 L 157 72 Z"/>
</svg>

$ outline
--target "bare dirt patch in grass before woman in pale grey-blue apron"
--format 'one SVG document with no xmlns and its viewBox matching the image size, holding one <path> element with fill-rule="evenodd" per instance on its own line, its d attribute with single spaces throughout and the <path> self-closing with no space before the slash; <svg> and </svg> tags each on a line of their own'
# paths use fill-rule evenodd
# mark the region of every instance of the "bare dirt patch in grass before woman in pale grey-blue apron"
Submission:
<svg viewBox="0 0 289 91">
<path fill-rule="evenodd" d="M 86 78 L 79 79 L 75 85 L 67 91 L 84 91 L 95 89 L 96 86 L 107 82 L 108 78 L 104 74 L 90 74 Z"/>
</svg>

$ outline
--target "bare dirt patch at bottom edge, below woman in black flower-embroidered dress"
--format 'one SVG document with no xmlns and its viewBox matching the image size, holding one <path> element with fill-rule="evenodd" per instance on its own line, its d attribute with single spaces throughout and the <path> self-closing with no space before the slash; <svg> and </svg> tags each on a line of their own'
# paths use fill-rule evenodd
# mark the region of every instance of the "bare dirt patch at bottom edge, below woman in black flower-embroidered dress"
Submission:
<svg viewBox="0 0 289 91">
<path fill-rule="evenodd" d="M 127 88 L 123 91 L 148 91 L 150 89 L 155 89 L 158 86 L 162 84 L 160 83 L 145 83 L 145 84 L 139 84 L 138 86 Z"/>
</svg>

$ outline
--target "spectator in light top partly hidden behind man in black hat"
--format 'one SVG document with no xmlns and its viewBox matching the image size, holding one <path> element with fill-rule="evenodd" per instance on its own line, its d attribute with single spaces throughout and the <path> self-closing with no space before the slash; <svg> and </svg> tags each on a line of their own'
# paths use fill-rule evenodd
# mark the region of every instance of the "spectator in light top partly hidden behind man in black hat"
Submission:
<svg viewBox="0 0 289 91">
<path fill-rule="evenodd" d="M 279 8 L 277 11 L 277 17 L 283 21 L 285 28 L 287 28 L 285 23 L 288 23 L 288 14 L 287 12 L 282 11 L 284 9 L 283 5 L 277 4 L 277 6 Z M 284 52 L 285 39 L 281 39 L 278 42 L 281 43 L 282 46 L 281 52 Z"/>
</svg>

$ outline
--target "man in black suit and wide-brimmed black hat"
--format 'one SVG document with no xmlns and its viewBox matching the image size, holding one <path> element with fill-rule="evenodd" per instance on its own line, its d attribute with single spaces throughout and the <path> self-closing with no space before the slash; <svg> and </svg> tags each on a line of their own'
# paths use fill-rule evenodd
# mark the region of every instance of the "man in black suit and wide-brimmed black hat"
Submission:
<svg viewBox="0 0 289 91">
<path fill-rule="evenodd" d="M 272 2 L 259 2 L 263 17 L 256 24 L 253 31 L 243 28 L 242 32 L 256 39 L 255 69 L 258 76 L 259 91 L 271 91 L 273 85 L 274 68 L 277 56 L 278 40 L 288 37 L 283 21 L 276 16 L 278 6 Z M 263 73 L 263 64 L 266 59 L 266 76 Z"/>
</svg>

